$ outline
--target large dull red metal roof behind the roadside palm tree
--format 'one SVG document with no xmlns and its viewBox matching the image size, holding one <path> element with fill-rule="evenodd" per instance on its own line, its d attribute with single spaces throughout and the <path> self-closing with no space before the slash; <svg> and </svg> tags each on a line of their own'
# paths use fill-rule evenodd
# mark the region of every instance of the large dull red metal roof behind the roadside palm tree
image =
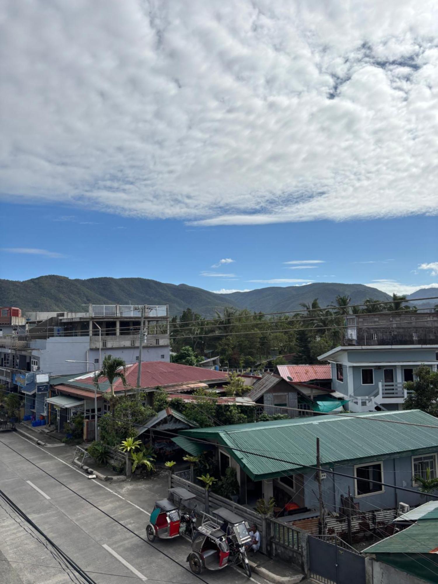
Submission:
<svg viewBox="0 0 438 584">
<path fill-rule="evenodd" d="M 126 366 L 125 377 L 128 387 L 137 385 L 138 363 Z M 89 384 L 94 388 L 93 376 L 80 376 L 81 384 Z M 72 376 L 71 381 L 75 378 Z M 78 380 L 79 381 L 79 380 Z M 100 377 L 99 383 L 105 383 L 106 377 Z M 141 364 L 141 383 L 142 388 L 148 387 L 168 387 L 172 385 L 196 384 L 196 383 L 221 383 L 228 381 L 228 374 L 223 371 L 214 371 L 203 369 L 202 367 L 190 367 L 180 365 L 179 363 L 163 363 L 162 361 L 143 361 Z M 124 391 L 125 388 L 121 379 L 114 381 L 114 391 Z"/>
</svg>

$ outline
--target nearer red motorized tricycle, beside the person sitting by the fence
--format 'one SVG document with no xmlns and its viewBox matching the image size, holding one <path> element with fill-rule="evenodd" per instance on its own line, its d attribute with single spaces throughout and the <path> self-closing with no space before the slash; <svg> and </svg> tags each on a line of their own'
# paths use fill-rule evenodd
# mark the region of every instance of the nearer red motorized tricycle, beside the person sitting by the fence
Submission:
<svg viewBox="0 0 438 584">
<path fill-rule="evenodd" d="M 235 513 L 220 507 L 213 512 L 223 524 L 208 521 L 197 529 L 192 540 L 192 552 L 187 556 L 190 569 L 200 574 L 203 569 L 220 570 L 227 565 L 242 565 L 246 576 L 251 578 L 251 566 L 246 555 L 245 544 L 251 536 L 245 520 Z"/>
</svg>

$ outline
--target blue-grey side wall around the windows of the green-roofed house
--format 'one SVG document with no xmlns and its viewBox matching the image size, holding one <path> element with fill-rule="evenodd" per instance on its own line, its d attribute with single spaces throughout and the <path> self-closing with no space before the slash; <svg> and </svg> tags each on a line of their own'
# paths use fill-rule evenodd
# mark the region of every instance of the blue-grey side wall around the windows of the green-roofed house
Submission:
<svg viewBox="0 0 438 584">
<path fill-rule="evenodd" d="M 367 463 L 363 463 L 367 464 Z M 354 465 L 335 466 L 333 470 L 342 472 L 343 474 L 354 475 Z M 416 489 L 412 486 L 412 458 L 410 456 L 391 458 L 383 460 L 383 482 L 390 485 L 402 486 L 408 489 Z M 333 483 L 334 481 L 334 483 Z M 333 477 L 329 472 L 326 473 L 326 478 L 321 481 L 322 496 L 326 505 L 327 511 L 339 512 L 341 505 L 340 495 L 348 495 L 348 487 L 350 493 L 354 497 L 354 480 L 353 478 Z M 305 489 L 305 506 L 310 509 L 318 507 L 318 483 L 315 481 L 315 472 L 311 471 L 304 475 L 304 489 Z M 354 501 L 359 503 L 359 509 L 362 511 L 371 511 L 378 509 L 394 509 L 397 508 L 398 503 L 407 503 L 408 505 L 421 505 L 426 502 L 426 498 L 422 493 L 409 493 L 405 491 L 396 491 L 391 487 L 384 487 L 383 493 L 377 493 L 367 496 L 355 497 Z"/>
</svg>

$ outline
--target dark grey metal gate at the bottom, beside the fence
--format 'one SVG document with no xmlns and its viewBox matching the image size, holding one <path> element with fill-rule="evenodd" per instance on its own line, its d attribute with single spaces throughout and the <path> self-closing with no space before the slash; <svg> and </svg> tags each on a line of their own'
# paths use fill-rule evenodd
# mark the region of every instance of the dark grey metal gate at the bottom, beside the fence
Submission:
<svg viewBox="0 0 438 584">
<path fill-rule="evenodd" d="M 338 536 L 309 536 L 310 577 L 324 584 L 365 584 L 365 558 Z"/>
</svg>

